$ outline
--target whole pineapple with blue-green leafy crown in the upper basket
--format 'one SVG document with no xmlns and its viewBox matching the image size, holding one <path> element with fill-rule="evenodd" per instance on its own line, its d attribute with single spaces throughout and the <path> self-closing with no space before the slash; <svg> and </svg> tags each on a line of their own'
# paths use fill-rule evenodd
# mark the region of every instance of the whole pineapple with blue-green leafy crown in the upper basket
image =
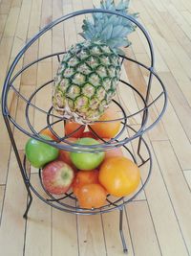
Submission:
<svg viewBox="0 0 191 256">
<path fill-rule="evenodd" d="M 129 1 L 101 1 L 101 9 L 128 13 Z M 129 14 L 129 13 L 128 13 Z M 99 119 L 117 91 L 127 35 L 136 26 L 129 20 L 108 13 L 93 13 L 83 21 L 83 42 L 64 55 L 53 81 L 53 108 L 67 119 L 88 124 Z M 136 17 L 137 13 L 131 14 Z"/>
</svg>

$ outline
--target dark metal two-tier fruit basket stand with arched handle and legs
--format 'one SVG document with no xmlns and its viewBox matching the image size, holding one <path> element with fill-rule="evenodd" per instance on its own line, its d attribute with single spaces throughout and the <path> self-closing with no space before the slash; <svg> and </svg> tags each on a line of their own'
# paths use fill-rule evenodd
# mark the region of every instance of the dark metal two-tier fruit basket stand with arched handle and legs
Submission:
<svg viewBox="0 0 191 256">
<path fill-rule="evenodd" d="M 40 85 L 32 93 L 32 95 L 29 99 L 27 99 L 25 96 L 23 96 L 13 85 L 13 82 L 16 80 L 16 78 L 18 76 L 20 76 L 25 70 L 30 68 L 33 64 L 35 64 L 35 63 L 37 63 L 37 62 L 39 62 L 39 61 L 41 61 L 45 58 L 54 58 L 55 57 L 55 58 L 57 58 L 58 61 L 60 61 L 60 57 L 64 54 L 64 52 L 55 53 L 53 55 L 49 55 L 49 56 L 46 56 L 46 57 L 43 57 L 43 58 L 38 58 L 38 59 L 32 61 L 28 65 L 24 66 L 20 71 L 18 71 L 13 76 L 13 78 L 12 78 L 12 73 L 13 73 L 19 59 L 22 58 L 22 56 L 29 49 L 29 47 L 32 46 L 32 43 L 35 42 L 41 35 L 45 34 L 47 31 L 51 30 L 57 24 L 59 24 L 61 22 L 64 22 L 64 21 L 66 21 L 70 18 L 74 18 L 77 15 L 88 14 L 88 13 L 93 13 L 93 12 L 102 12 L 102 13 L 109 13 L 109 14 L 119 15 L 119 16 L 125 18 L 125 19 L 128 19 L 129 21 L 133 22 L 134 24 L 136 24 L 138 29 L 141 31 L 141 33 L 145 36 L 145 38 L 147 40 L 147 43 L 149 45 L 151 64 L 148 67 L 145 64 L 140 63 L 138 60 L 135 60 L 133 58 L 127 58 L 125 56 L 120 56 L 122 62 L 123 61 L 134 62 L 134 63 L 138 64 L 138 67 L 140 66 L 140 67 L 146 69 L 149 72 L 149 80 L 148 80 L 148 83 L 147 83 L 146 96 L 145 97 L 138 91 L 138 89 L 134 85 L 128 83 L 127 81 L 120 80 L 121 83 L 123 83 L 126 86 L 128 86 L 129 88 L 131 88 L 134 91 L 134 93 L 137 94 L 138 98 L 140 99 L 140 101 L 142 102 L 142 104 L 144 106 L 143 106 L 142 109 L 138 110 L 137 112 L 135 112 L 131 115 L 127 115 L 125 110 L 123 109 L 123 107 L 121 105 L 119 105 L 117 103 L 117 101 L 114 101 L 114 103 L 117 105 L 117 107 L 119 107 L 119 109 L 122 112 L 122 118 L 116 119 L 116 120 L 105 121 L 105 122 L 115 122 L 115 121 L 120 121 L 121 122 L 121 124 L 123 126 L 122 126 L 121 130 L 118 132 L 117 136 L 115 138 L 112 138 L 110 141 L 105 141 L 102 138 L 100 138 L 98 136 L 98 134 L 96 134 L 96 132 L 92 128 L 89 127 L 90 129 L 92 129 L 93 133 L 95 133 L 97 138 L 102 140 L 102 143 L 100 143 L 99 145 L 93 145 L 93 146 L 83 146 L 83 145 L 77 145 L 77 144 L 74 144 L 74 143 L 70 143 L 69 141 L 67 141 L 67 138 L 72 136 L 75 131 L 73 133 L 69 134 L 68 136 L 62 137 L 62 136 L 59 136 L 53 130 L 53 125 L 54 124 L 56 124 L 58 122 L 65 122 L 66 121 L 61 116 L 53 114 L 53 106 L 50 107 L 49 111 L 46 111 L 45 109 L 42 109 L 42 108 L 32 104 L 33 97 L 42 88 L 44 88 L 44 86 L 49 86 L 53 81 L 47 81 L 46 83 Z M 155 77 L 155 79 L 157 79 L 159 81 L 159 86 L 160 86 L 161 92 L 159 93 L 159 96 L 156 99 L 154 99 L 151 103 L 149 103 L 153 77 Z M 26 108 L 24 109 L 25 110 L 25 118 L 26 118 L 28 127 L 31 129 L 31 132 L 29 132 L 25 128 L 20 127 L 19 124 L 17 124 L 16 120 L 11 116 L 11 113 L 10 113 L 9 108 L 8 108 L 8 96 L 9 96 L 9 92 L 11 90 L 17 95 L 18 98 L 22 99 L 26 103 Z M 154 120 L 154 122 L 152 124 L 148 125 L 147 121 L 148 121 L 148 118 L 149 118 L 149 110 L 161 98 L 163 99 L 163 105 L 162 105 L 162 108 L 159 112 L 159 116 L 156 118 L 156 120 Z M 143 135 L 144 132 L 148 131 L 150 128 L 153 128 L 159 122 L 159 119 L 161 118 L 161 116 L 163 115 L 163 113 L 165 111 L 166 104 L 167 104 L 167 94 L 166 94 L 164 84 L 162 83 L 162 81 L 159 79 L 159 76 L 154 71 L 154 51 L 153 51 L 153 46 L 152 46 L 150 36 L 148 35 L 146 30 L 142 27 L 141 24 L 138 23 L 138 21 L 135 18 L 133 18 L 129 15 L 126 15 L 126 14 L 113 12 L 113 11 L 106 11 L 106 10 L 100 10 L 100 9 L 83 10 L 83 11 L 73 12 L 73 13 L 70 13 L 68 15 L 65 15 L 65 16 L 62 16 L 62 17 L 56 19 L 55 21 L 53 21 L 52 23 L 47 25 L 45 28 L 43 28 L 37 35 L 34 35 L 32 37 L 32 39 L 21 49 L 21 51 L 18 53 L 16 58 L 13 60 L 13 62 L 11 64 L 11 67 L 9 69 L 8 75 L 6 77 L 4 87 L 3 87 L 3 92 L 2 92 L 2 113 L 3 113 L 3 116 L 4 116 L 6 127 L 8 129 L 9 135 L 10 135 L 11 145 L 12 145 L 12 148 L 15 152 L 15 156 L 16 156 L 16 159 L 17 159 L 17 162 L 18 162 L 18 165 L 19 165 L 19 169 L 20 169 L 21 175 L 23 177 L 23 180 L 24 180 L 27 192 L 28 192 L 28 196 L 29 196 L 27 209 L 26 209 L 23 217 L 25 219 L 27 219 L 28 212 L 29 212 L 29 209 L 30 209 L 31 204 L 32 204 L 32 192 L 38 198 L 42 199 L 45 203 L 53 206 L 54 208 L 59 209 L 61 211 L 65 211 L 67 213 L 72 213 L 72 214 L 96 215 L 96 214 L 107 213 L 107 212 L 113 211 L 115 209 L 118 209 L 119 210 L 119 233 L 120 233 L 121 242 L 122 242 L 122 245 L 123 245 L 123 251 L 127 252 L 127 245 L 125 243 L 124 234 L 123 234 L 123 231 L 122 231 L 124 207 L 125 207 L 125 204 L 127 204 L 128 202 L 130 202 L 131 200 L 133 200 L 134 198 L 136 198 L 138 196 L 138 193 L 144 188 L 145 184 L 147 183 L 147 181 L 148 181 L 148 179 L 151 175 L 151 170 L 152 170 L 151 152 L 149 150 L 149 147 L 148 147 L 147 143 L 142 138 L 142 135 Z M 44 113 L 47 116 L 47 125 L 45 126 L 45 128 L 50 128 L 52 130 L 53 134 L 57 138 L 57 142 L 47 141 L 47 140 L 43 139 L 42 137 L 39 136 L 39 130 L 35 130 L 32 127 L 32 124 L 31 124 L 31 121 L 30 121 L 30 115 L 29 115 L 30 107 L 33 107 L 34 109 L 36 109 L 38 111 L 41 111 L 42 113 Z M 131 117 L 136 116 L 138 114 L 142 114 L 142 122 L 141 122 L 140 128 L 138 128 L 138 130 L 136 130 L 135 128 L 132 128 L 131 126 L 128 125 L 128 120 Z M 54 117 L 57 120 L 54 121 L 54 122 L 51 122 L 51 117 Z M 137 163 L 137 159 L 135 157 L 135 153 L 130 151 L 129 148 L 126 146 L 126 144 L 132 142 L 135 139 L 138 139 L 137 153 L 138 153 L 138 157 L 141 161 L 141 163 L 139 164 L 139 167 L 146 164 L 146 163 L 149 163 L 149 167 L 148 167 L 148 170 L 147 170 L 147 175 L 142 180 L 141 187 L 138 189 L 137 192 L 135 192 L 133 195 L 131 195 L 131 197 L 129 197 L 129 198 L 117 198 L 117 199 L 112 198 L 111 199 L 110 196 L 108 196 L 108 198 L 107 198 L 108 203 L 105 206 L 103 206 L 101 208 L 97 208 L 97 209 L 88 209 L 87 210 L 87 209 L 80 208 L 78 206 L 69 205 L 69 204 L 64 202 L 65 198 L 71 198 L 74 201 L 76 201 L 76 198 L 74 197 L 73 193 L 67 193 L 62 198 L 54 198 L 53 195 L 51 195 L 44 188 L 43 182 L 42 182 L 42 179 L 41 179 L 41 170 L 39 170 L 39 180 L 41 182 L 41 186 L 42 186 L 44 192 L 47 195 L 47 197 L 42 197 L 40 195 L 40 193 L 36 190 L 36 188 L 34 188 L 32 186 L 32 182 L 30 180 L 30 175 L 28 175 L 28 173 L 27 173 L 26 157 L 24 157 L 23 163 L 20 159 L 19 152 L 17 150 L 15 140 L 14 140 L 14 137 L 13 137 L 13 134 L 12 134 L 12 131 L 11 131 L 11 123 L 13 124 L 13 126 L 15 128 L 18 128 L 21 132 L 25 133 L 29 137 L 32 137 L 32 138 L 35 138 L 39 141 L 50 144 L 53 147 L 56 147 L 57 149 L 60 149 L 60 150 L 79 151 L 79 152 L 81 152 L 81 151 L 90 151 L 90 152 L 93 152 L 93 151 L 109 151 L 109 150 L 112 150 L 114 148 L 122 146 L 122 147 L 124 147 L 124 149 L 126 151 L 129 152 L 133 161 L 136 162 L 136 163 Z M 120 135 L 123 133 L 124 130 L 126 130 L 126 128 L 128 128 L 130 131 L 132 131 L 133 135 L 125 137 L 125 139 L 120 139 Z M 65 144 L 60 144 L 60 142 L 65 142 Z M 141 152 L 140 152 L 141 147 L 145 147 L 145 150 L 148 153 L 148 157 L 146 159 L 144 159 L 144 157 L 141 155 Z M 76 205 L 76 203 L 75 203 L 75 205 Z"/>
</svg>

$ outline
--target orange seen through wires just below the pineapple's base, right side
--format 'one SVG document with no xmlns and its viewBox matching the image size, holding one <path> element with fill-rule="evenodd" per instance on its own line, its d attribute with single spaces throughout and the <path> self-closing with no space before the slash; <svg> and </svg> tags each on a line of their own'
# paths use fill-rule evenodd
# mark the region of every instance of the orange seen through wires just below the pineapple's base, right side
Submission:
<svg viewBox="0 0 191 256">
<path fill-rule="evenodd" d="M 117 110 L 114 107 L 108 108 L 98 121 L 109 121 L 119 118 Z M 120 121 L 117 122 L 106 122 L 106 123 L 95 123 L 90 125 L 91 128 L 96 132 L 96 134 L 101 138 L 114 138 L 119 129 Z"/>
</svg>

